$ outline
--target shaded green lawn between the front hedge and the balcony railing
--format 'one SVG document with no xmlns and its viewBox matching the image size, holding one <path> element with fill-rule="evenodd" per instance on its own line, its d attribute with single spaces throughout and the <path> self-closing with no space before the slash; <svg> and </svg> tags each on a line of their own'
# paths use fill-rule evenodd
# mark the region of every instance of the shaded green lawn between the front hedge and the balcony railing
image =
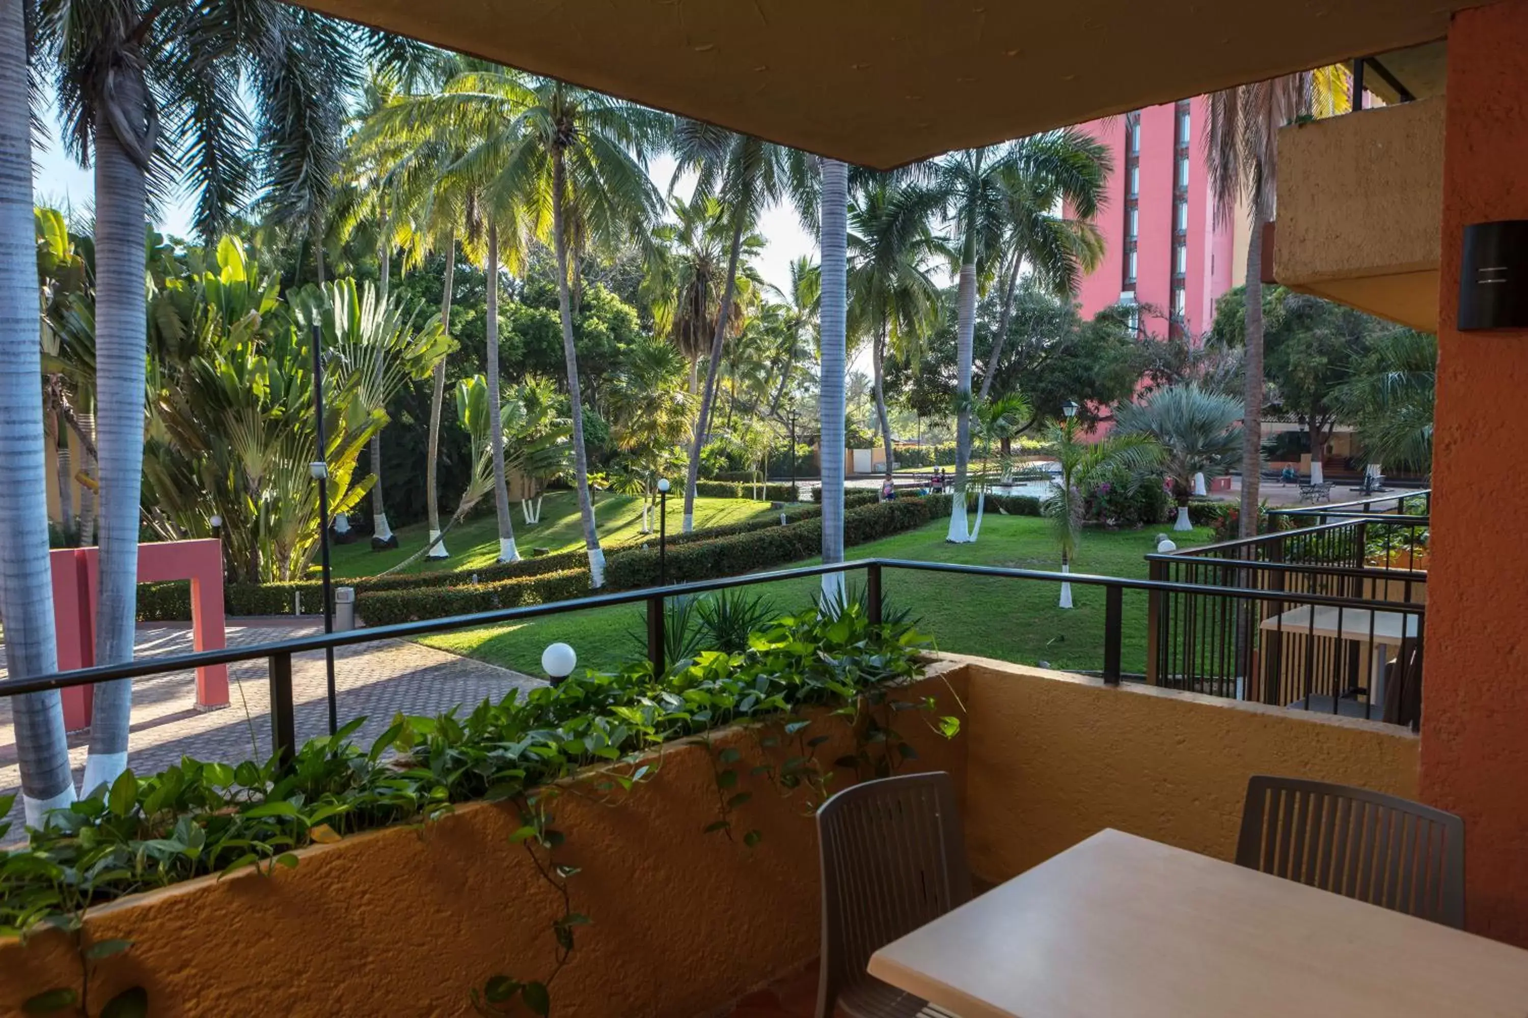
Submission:
<svg viewBox="0 0 1528 1018">
<path fill-rule="evenodd" d="M 850 559 L 921 559 L 979 565 L 1056 569 L 1057 552 L 1050 520 L 1028 516 L 986 516 L 975 545 L 944 543 L 946 520 L 906 534 L 850 548 Z M 1144 557 L 1155 548 L 1157 530 L 1088 531 L 1077 572 L 1146 575 Z M 1180 546 L 1207 543 L 1210 531 L 1174 536 Z M 807 563 L 801 563 L 807 565 Z M 854 574 L 851 574 L 853 577 Z M 862 574 L 860 574 L 862 575 Z M 851 578 L 851 581 L 854 581 Z M 749 588 L 762 591 L 784 612 L 810 603 L 817 578 L 779 580 Z M 993 577 L 886 571 L 883 586 L 892 609 L 909 607 L 918 629 L 941 650 L 976 653 L 1021 664 L 1050 662 L 1057 668 L 1099 668 L 1103 664 L 1103 588 L 1074 585 L 1073 610 L 1056 607 L 1053 583 Z M 541 673 L 541 650 L 555 641 L 573 646 L 579 667 L 614 668 L 645 650 L 637 606 L 492 626 L 471 632 L 428 636 L 426 644 L 501 664 L 529 675 Z M 1146 668 L 1146 595 L 1125 592 L 1123 668 Z"/>
</svg>

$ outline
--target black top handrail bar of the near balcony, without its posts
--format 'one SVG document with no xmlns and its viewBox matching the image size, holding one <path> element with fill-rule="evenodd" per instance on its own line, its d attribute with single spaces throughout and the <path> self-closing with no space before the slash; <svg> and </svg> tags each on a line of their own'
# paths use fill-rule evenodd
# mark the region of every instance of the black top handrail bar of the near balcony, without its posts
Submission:
<svg viewBox="0 0 1528 1018">
<path fill-rule="evenodd" d="M 1291 531 L 1293 533 L 1293 531 Z M 1254 563 L 1247 563 L 1254 565 Z M 623 591 L 619 594 L 594 594 L 590 597 L 571 598 L 567 601 L 547 601 L 544 604 L 526 604 L 520 607 L 503 607 L 490 612 L 472 615 L 449 615 L 445 618 L 428 618 L 411 623 L 396 623 L 393 626 L 368 626 L 335 633 L 318 633 L 295 639 L 281 639 L 266 644 L 249 644 L 241 647 L 223 647 L 219 650 L 197 650 L 183 655 L 168 655 L 160 658 L 141 658 L 125 664 L 102 664 L 72 672 L 53 672 L 50 675 L 29 678 L 0 679 L 0 697 L 20 696 L 23 693 L 41 693 L 47 690 L 63 690 L 75 685 L 90 685 L 93 682 L 110 682 L 115 679 L 133 679 L 145 675 L 162 675 L 167 672 L 185 672 L 212 664 L 232 664 L 235 661 L 254 661 L 257 658 L 289 658 L 293 653 L 324 650 L 329 647 L 348 647 L 353 644 L 374 643 L 379 639 L 403 639 L 437 632 L 452 632 L 458 629 L 475 629 L 495 623 L 515 621 L 523 618 L 539 618 L 542 615 L 561 615 L 594 607 L 610 607 L 616 604 L 636 604 L 639 601 L 659 601 L 668 597 L 686 594 L 704 594 L 755 583 L 772 583 L 776 580 L 792 580 L 828 572 L 850 572 L 866 569 L 908 569 L 915 572 L 953 572 L 963 575 L 1007 577 L 1013 580 L 1038 580 L 1047 583 L 1076 583 L 1079 586 L 1103 586 L 1120 591 L 1161 591 L 1167 594 L 1198 594 L 1219 595 L 1238 600 L 1268 600 L 1270 592 L 1254 588 L 1212 586 L 1203 583 L 1178 583 L 1172 580 L 1138 580 L 1131 577 L 1109 577 L 1089 572 L 1048 572 L 1041 569 L 1015 569 L 1008 566 L 978 566 L 955 562 L 921 562 L 914 559 L 856 559 L 834 565 L 796 566 L 792 569 L 775 569 L 770 572 L 752 572 L 740 577 L 721 577 L 715 580 L 697 580 L 694 583 L 671 583 L 660 588 L 643 588 L 639 591 Z M 879 575 L 876 577 L 879 580 Z M 879 583 L 877 583 L 879 586 Z M 1317 604 L 1322 607 L 1372 607 L 1368 598 L 1331 597 L 1323 594 L 1279 592 L 1282 601 L 1299 601 L 1302 604 Z M 1394 609 L 1386 604 L 1386 610 L 1398 610 L 1421 615 L 1423 604 L 1407 604 L 1397 601 Z M 872 609 L 874 610 L 874 609 Z"/>
</svg>

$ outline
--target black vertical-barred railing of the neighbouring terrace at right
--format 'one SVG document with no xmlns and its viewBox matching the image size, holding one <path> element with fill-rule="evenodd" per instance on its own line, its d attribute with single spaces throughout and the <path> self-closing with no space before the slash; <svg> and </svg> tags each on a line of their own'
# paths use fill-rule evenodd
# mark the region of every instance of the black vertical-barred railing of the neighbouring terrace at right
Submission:
<svg viewBox="0 0 1528 1018">
<path fill-rule="evenodd" d="M 1287 511 L 1329 519 L 1148 556 L 1151 578 L 1180 588 L 1149 598 L 1148 681 L 1416 725 L 1429 519 L 1374 511 L 1380 501 Z M 1229 600 L 1224 588 L 1264 597 Z M 1319 610 L 1300 600 L 1313 594 L 1348 604 Z"/>
</svg>

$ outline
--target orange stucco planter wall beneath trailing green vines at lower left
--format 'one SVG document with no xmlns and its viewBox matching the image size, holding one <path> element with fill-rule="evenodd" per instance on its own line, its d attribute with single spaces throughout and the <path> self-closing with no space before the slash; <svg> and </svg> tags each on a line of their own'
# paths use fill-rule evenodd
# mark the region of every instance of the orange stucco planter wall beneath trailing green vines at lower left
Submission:
<svg viewBox="0 0 1528 1018">
<path fill-rule="evenodd" d="M 953 675 L 908 694 L 953 713 L 963 687 Z M 966 736 L 944 740 L 911 713 L 900 719 L 917 768 L 950 771 L 963 786 Z M 853 751 L 842 720 L 819 720 L 804 737 L 813 731 L 833 734 L 819 759 Z M 556 858 L 582 867 L 573 908 L 593 925 L 578 929 L 553 984 L 555 1015 L 692 1018 L 816 957 L 807 797 L 749 777 L 762 752 L 752 734 L 718 733 L 715 745 L 743 752 L 740 788 L 755 797 L 736 823 L 740 833 L 762 832 L 756 849 L 703 833 L 717 818 L 715 772 L 694 745 L 668 746 L 657 775 L 616 804 L 588 794 L 556 801 L 555 826 L 567 833 Z M 295 870 L 270 878 L 243 871 L 96 910 L 93 939 L 134 946 L 101 965 L 92 1000 L 138 983 L 156 1018 L 471 1013 L 468 991 L 489 975 L 544 978 L 552 968 L 549 923 L 561 913 L 524 847 L 509 842 L 518 826 L 510 806 L 472 804 L 423 830 L 304 850 Z M 58 984 L 78 984 L 61 936 L 0 942 L 0 1015 Z"/>
</svg>

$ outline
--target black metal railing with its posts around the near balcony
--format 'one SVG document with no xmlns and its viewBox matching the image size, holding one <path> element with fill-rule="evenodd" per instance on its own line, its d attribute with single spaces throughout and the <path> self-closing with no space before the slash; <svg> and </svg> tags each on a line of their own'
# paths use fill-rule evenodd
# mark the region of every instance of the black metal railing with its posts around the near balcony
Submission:
<svg viewBox="0 0 1528 1018">
<path fill-rule="evenodd" d="M 1144 591 L 1149 595 L 1213 595 L 1225 598 L 1230 603 L 1245 603 L 1248 607 L 1245 612 L 1250 615 L 1256 609 L 1258 603 L 1274 600 L 1277 603 L 1303 604 L 1314 609 L 1337 609 L 1337 610 L 1355 610 L 1365 603 L 1354 598 L 1334 597 L 1320 592 L 1270 592 L 1259 589 L 1256 585 L 1238 585 L 1238 586 L 1193 586 L 1190 583 L 1164 581 L 1164 580 L 1137 580 L 1125 577 L 1106 577 L 1093 575 L 1085 572 L 1045 572 L 1036 569 L 1012 569 L 1004 566 L 976 566 L 976 565 L 958 565 L 946 562 L 915 562 L 905 559 L 862 559 L 857 562 L 845 562 L 837 565 L 819 565 L 819 566 L 801 566 L 793 569 L 778 569 L 773 572 L 756 572 L 740 577 L 726 577 L 718 580 L 701 580 L 694 583 L 669 585 L 662 588 L 649 588 L 642 591 L 626 591 L 620 594 L 594 594 L 590 597 L 581 597 L 568 601 L 553 601 L 547 604 L 530 604 L 523 607 L 506 607 L 492 612 L 480 612 L 474 615 L 454 615 L 448 618 L 432 618 L 411 623 L 399 623 L 394 626 L 377 626 L 367 629 L 351 629 L 336 633 L 324 633 L 315 636 L 301 636 L 296 639 L 284 639 L 277 643 L 258 644 L 258 646 L 241 646 L 241 647 L 225 647 L 220 650 L 202 650 L 186 655 L 174 656 L 159 656 L 145 658 L 133 661 L 128 664 L 113 664 L 113 665 L 98 665 L 90 668 L 78 668 L 73 672 L 57 672 L 52 675 L 29 676 L 29 678 L 8 678 L 0 681 L 0 697 L 18 696 L 23 693 L 38 693 L 44 690 L 63 690 L 78 685 L 90 685 L 95 682 L 108 682 L 115 679 L 138 679 L 154 675 L 167 675 L 173 672 L 186 672 L 197 667 L 214 665 L 214 664 L 234 664 L 240 661 L 257 661 L 264 658 L 267 662 L 267 676 L 270 685 L 270 734 L 272 746 L 278 754 L 290 754 L 296 748 L 296 731 L 295 731 L 295 705 L 292 693 L 292 655 L 306 652 L 322 652 L 329 649 L 348 647 L 356 644 L 376 643 L 384 639 L 408 639 L 417 636 L 426 636 L 432 633 L 445 633 L 463 629 L 475 629 L 481 626 L 494 626 L 500 623 L 542 618 L 549 615 L 564 615 L 570 612 L 581 612 L 599 607 L 611 607 L 619 604 L 645 604 L 646 606 L 646 652 L 654 670 L 662 672 L 665 668 L 665 603 L 666 598 L 704 594 L 709 591 L 721 591 L 729 588 L 752 586 L 759 583 L 772 583 L 776 580 L 792 580 L 801 577 L 813 577 L 830 572 L 865 572 L 865 603 L 869 621 L 879 624 L 882 621 L 882 594 L 885 591 L 885 571 L 906 571 L 906 572 L 943 572 L 943 574 L 960 574 L 970 577 L 1001 577 L 1007 580 L 1024 580 L 1038 583 L 1071 583 L 1083 588 L 1105 589 L 1105 612 L 1103 612 L 1103 668 L 1102 676 L 1105 682 L 1118 684 L 1122 676 L 1122 661 L 1123 661 L 1123 636 L 1125 636 L 1125 612 L 1123 612 L 1123 595 L 1126 591 Z M 1403 606 L 1406 610 L 1415 610 L 1420 617 L 1420 606 Z M 1002 620 L 993 620 L 995 624 L 1001 624 Z M 1420 618 L 1418 618 L 1420 621 Z"/>
</svg>

